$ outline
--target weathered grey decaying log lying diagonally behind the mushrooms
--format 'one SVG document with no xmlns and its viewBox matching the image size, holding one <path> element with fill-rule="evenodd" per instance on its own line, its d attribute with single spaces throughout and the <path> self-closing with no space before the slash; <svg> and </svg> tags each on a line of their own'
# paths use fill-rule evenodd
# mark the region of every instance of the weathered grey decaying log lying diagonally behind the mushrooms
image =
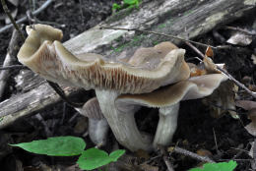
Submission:
<svg viewBox="0 0 256 171">
<path fill-rule="evenodd" d="M 148 29 L 191 39 L 241 17 L 244 12 L 254 8 L 255 3 L 256 0 L 147 1 L 139 9 L 126 9 L 114 14 L 64 45 L 74 54 L 96 52 L 114 60 L 116 56 L 122 58 L 131 55 L 139 46 L 152 46 L 171 39 L 135 31 L 99 29 L 101 26 Z M 174 42 L 179 43 L 176 40 Z M 68 94 L 73 91 L 69 87 L 65 89 Z M 45 83 L 12 96 L 0 103 L 0 128 L 59 100 Z"/>
</svg>

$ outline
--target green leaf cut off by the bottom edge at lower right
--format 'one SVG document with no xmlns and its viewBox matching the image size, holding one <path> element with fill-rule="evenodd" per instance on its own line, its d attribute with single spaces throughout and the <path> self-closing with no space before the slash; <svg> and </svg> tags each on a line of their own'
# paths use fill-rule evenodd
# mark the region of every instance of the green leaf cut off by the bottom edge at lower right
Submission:
<svg viewBox="0 0 256 171">
<path fill-rule="evenodd" d="M 237 166 L 237 163 L 233 160 L 220 163 L 207 163 L 203 165 L 203 168 L 193 168 L 189 171 L 233 171 Z"/>
</svg>

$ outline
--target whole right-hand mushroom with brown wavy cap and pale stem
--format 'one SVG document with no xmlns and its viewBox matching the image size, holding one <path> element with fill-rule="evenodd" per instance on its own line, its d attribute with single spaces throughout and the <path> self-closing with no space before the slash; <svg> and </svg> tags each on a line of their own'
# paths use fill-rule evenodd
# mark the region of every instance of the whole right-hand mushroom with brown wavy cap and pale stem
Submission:
<svg viewBox="0 0 256 171">
<path fill-rule="evenodd" d="M 226 81 L 223 74 L 210 74 L 192 77 L 175 85 L 166 85 L 159 89 L 142 94 L 122 94 L 115 100 L 116 106 L 128 104 L 159 107 L 160 121 L 154 139 L 154 147 L 158 144 L 168 145 L 177 127 L 179 102 L 181 100 L 202 98 Z"/>
</svg>

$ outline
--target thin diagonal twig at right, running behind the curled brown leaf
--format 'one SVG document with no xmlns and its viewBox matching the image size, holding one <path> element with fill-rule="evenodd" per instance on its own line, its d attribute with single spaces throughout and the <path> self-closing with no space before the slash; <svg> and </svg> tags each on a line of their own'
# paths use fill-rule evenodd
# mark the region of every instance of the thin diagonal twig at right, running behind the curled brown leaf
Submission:
<svg viewBox="0 0 256 171">
<path fill-rule="evenodd" d="M 202 52 L 200 52 L 193 44 L 191 44 L 190 42 L 186 42 L 186 44 L 191 47 L 193 50 L 195 50 L 195 52 L 197 52 L 202 58 L 204 58 L 204 54 Z M 217 65 L 217 69 L 219 71 L 221 71 L 230 81 L 232 81 L 235 85 L 243 88 L 247 93 L 249 93 L 251 96 L 253 96 L 254 98 L 256 98 L 256 92 L 251 91 L 250 89 L 248 89 L 245 85 L 239 83 L 238 81 L 236 81 L 229 73 L 227 73 L 224 69 L 222 69 L 221 67 L 219 67 Z"/>
</svg>

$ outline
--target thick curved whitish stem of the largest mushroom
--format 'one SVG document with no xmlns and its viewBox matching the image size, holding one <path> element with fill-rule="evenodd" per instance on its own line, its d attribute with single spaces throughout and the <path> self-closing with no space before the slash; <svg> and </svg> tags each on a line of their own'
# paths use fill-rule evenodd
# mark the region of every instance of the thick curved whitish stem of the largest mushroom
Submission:
<svg viewBox="0 0 256 171">
<path fill-rule="evenodd" d="M 115 99 L 118 95 L 119 93 L 114 90 L 96 89 L 96 97 L 100 109 L 117 142 L 131 151 L 138 149 L 152 150 L 152 142 L 142 136 L 137 128 L 134 118 L 135 110 L 132 108 L 129 108 L 130 110 L 127 110 L 127 108 L 120 110 L 120 108 L 116 107 Z"/>
</svg>

